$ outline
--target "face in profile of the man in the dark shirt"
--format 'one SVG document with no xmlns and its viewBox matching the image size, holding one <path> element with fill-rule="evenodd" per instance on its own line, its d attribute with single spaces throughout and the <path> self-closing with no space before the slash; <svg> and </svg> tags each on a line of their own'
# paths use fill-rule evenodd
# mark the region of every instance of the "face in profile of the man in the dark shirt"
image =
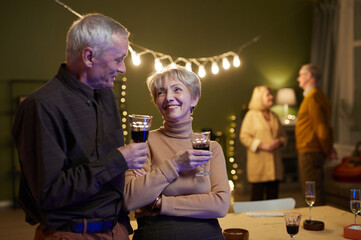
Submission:
<svg viewBox="0 0 361 240">
<path fill-rule="evenodd" d="M 125 73 L 124 59 L 128 54 L 128 38 L 113 35 L 112 45 L 102 56 L 93 58 L 86 80 L 86 84 L 92 89 L 112 88 L 115 77 L 119 73 Z"/>
</svg>

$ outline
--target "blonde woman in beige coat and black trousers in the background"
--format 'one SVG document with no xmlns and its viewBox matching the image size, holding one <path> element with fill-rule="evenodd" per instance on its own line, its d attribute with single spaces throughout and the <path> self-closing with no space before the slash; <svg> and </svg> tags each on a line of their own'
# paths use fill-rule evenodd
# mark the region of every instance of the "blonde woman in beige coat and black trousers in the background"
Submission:
<svg viewBox="0 0 361 240">
<path fill-rule="evenodd" d="M 287 137 L 273 106 L 271 89 L 257 86 L 253 90 L 249 111 L 244 117 L 240 140 L 247 148 L 247 178 L 252 183 L 251 200 L 278 198 L 279 181 L 283 179 L 280 148 Z"/>
</svg>

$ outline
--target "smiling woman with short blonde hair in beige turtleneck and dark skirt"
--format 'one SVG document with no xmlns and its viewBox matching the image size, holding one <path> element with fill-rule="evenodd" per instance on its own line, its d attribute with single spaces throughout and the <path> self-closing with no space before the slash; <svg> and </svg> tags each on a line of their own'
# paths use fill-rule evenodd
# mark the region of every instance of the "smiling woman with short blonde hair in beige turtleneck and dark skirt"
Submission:
<svg viewBox="0 0 361 240">
<path fill-rule="evenodd" d="M 168 68 L 147 79 L 163 126 L 149 133 L 144 172 L 128 170 L 125 205 L 135 210 L 133 239 L 224 239 L 217 218 L 229 208 L 230 189 L 221 146 L 193 150 L 191 112 L 201 83 L 183 67 Z M 196 176 L 201 164 L 213 174 Z"/>
</svg>

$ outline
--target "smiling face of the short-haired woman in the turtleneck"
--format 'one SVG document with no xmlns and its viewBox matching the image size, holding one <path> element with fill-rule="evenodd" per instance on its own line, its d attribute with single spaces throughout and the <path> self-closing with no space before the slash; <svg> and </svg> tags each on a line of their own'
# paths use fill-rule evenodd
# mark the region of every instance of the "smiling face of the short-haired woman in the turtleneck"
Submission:
<svg viewBox="0 0 361 240">
<path fill-rule="evenodd" d="M 155 104 L 164 120 L 180 122 L 188 119 L 191 108 L 197 105 L 198 99 L 192 99 L 189 89 L 175 78 L 162 80 L 157 89 Z"/>
</svg>

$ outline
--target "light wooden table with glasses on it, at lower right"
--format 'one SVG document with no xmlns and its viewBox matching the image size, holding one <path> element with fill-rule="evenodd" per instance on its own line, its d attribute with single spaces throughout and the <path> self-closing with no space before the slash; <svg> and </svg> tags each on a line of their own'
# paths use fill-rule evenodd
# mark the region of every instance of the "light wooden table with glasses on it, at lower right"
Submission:
<svg viewBox="0 0 361 240">
<path fill-rule="evenodd" d="M 302 214 L 301 224 L 309 217 L 309 208 L 295 208 L 292 210 L 279 210 L 267 212 L 299 212 Z M 330 206 L 312 208 L 312 219 L 324 222 L 323 231 L 309 231 L 300 226 L 296 240 L 334 240 L 346 239 L 343 237 L 343 228 L 354 223 L 354 215 Z M 361 222 L 361 219 L 359 219 Z M 244 228 L 249 231 L 249 240 L 281 240 L 290 239 L 286 231 L 283 217 L 251 217 L 246 213 L 229 213 L 226 217 L 220 218 L 219 223 L 222 229 Z"/>
</svg>

